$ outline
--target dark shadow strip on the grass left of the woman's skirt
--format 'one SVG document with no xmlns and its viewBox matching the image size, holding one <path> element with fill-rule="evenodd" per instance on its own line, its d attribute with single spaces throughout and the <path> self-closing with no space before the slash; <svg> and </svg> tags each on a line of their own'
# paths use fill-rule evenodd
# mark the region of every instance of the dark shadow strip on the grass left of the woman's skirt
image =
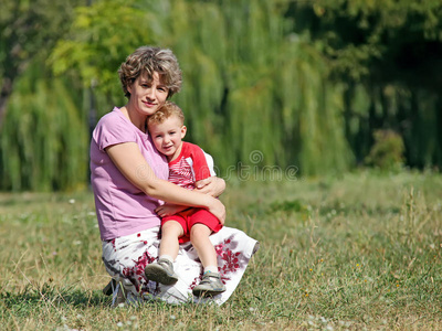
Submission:
<svg viewBox="0 0 442 331">
<path fill-rule="evenodd" d="M 25 306 L 71 306 L 75 308 L 108 307 L 109 297 L 102 291 L 84 291 L 78 289 L 55 288 L 44 285 L 41 289 L 32 286 L 27 287 L 21 292 L 2 291 L 0 301 L 6 308 L 18 308 Z"/>
</svg>

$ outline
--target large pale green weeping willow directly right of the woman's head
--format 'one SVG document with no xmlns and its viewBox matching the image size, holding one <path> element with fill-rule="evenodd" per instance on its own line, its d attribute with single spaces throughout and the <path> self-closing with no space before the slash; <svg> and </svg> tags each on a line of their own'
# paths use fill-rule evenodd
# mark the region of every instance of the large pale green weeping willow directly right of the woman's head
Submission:
<svg viewBox="0 0 442 331">
<path fill-rule="evenodd" d="M 223 169 L 294 164 L 314 174 L 348 167 L 341 90 L 327 83 L 318 52 L 287 33 L 283 2 L 169 3 L 159 14 L 185 71 L 177 99 L 192 139 L 222 156 Z"/>
</svg>

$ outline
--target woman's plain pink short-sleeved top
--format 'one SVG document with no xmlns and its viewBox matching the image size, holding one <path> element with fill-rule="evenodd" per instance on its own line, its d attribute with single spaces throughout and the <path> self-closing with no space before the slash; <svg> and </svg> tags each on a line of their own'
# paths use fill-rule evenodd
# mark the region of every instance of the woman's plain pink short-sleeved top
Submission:
<svg viewBox="0 0 442 331">
<path fill-rule="evenodd" d="M 162 202 L 131 184 L 105 151 L 107 147 L 123 142 L 136 142 L 159 179 L 167 180 L 169 174 L 167 160 L 157 151 L 149 135 L 134 126 L 119 108 L 103 116 L 91 141 L 91 182 L 102 241 L 161 223 L 155 209 Z"/>
</svg>

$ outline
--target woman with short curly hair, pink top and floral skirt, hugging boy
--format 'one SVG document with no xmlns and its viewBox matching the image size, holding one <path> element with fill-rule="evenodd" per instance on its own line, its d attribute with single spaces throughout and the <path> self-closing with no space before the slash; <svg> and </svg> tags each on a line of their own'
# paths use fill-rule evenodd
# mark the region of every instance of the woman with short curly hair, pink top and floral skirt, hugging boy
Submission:
<svg viewBox="0 0 442 331">
<path fill-rule="evenodd" d="M 161 299 L 179 303 L 194 298 L 192 288 L 201 279 L 201 264 L 191 244 L 180 246 L 175 261 L 179 276 L 173 286 L 145 277 L 156 260 L 160 217 L 188 206 L 203 207 L 224 223 L 220 195 L 225 183 L 209 178 L 189 191 L 167 181 L 168 164 L 154 147 L 146 119 L 181 87 L 181 71 L 170 50 L 143 46 L 130 54 L 118 71 L 127 104 L 103 116 L 91 141 L 91 180 L 103 242 L 103 261 L 113 277 L 113 303 Z M 167 204 L 162 204 L 167 202 Z M 220 273 L 227 290 L 213 298 L 221 305 L 238 286 L 256 241 L 243 232 L 224 227 L 212 235 Z"/>
</svg>

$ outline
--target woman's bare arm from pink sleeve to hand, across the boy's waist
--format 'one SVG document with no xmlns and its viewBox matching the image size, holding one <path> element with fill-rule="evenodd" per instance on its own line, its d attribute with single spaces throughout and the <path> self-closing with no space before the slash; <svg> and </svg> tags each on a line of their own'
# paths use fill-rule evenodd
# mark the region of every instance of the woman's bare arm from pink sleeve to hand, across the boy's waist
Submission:
<svg viewBox="0 0 442 331">
<path fill-rule="evenodd" d="M 225 207 L 219 200 L 158 179 L 135 142 L 113 145 L 106 148 L 106 152 L 123 175 L 147 195 L 175 204 L 207 209 L 221 224 L 224 223 Z"/>
</svg>

